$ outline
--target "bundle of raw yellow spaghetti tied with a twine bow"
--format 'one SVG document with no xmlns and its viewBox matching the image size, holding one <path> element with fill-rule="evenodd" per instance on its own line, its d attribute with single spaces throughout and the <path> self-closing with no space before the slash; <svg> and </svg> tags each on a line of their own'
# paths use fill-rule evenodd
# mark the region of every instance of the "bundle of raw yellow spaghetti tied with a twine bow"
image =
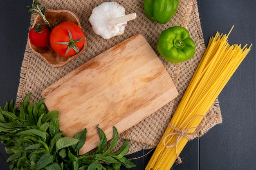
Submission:
<svg viewBox="0 0 256 170">
<path fill-rule="evenodd" d="M 231 30 L 234 26 L 232 26 Z M 196 137 L 207 113 L 252 44 L 229 45 L 228 35 L 211 37 L 202 59 L 146 170 L 170 170 L 186 143 Z M 202 122 L 202 123 L 200 123 Z"/>
</svg>

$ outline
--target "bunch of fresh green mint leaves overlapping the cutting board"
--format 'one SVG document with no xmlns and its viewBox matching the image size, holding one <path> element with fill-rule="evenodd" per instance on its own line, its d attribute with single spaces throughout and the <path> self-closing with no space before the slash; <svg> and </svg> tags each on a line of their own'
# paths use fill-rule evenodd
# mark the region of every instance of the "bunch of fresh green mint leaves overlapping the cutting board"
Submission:
<svg viewBox="0 0 256 170">
<path fill-rule="evenodd" d="M 119 170 L 121 166 L 135 167 L 124 157 L 129 142 L 116 153 L 110 153 L 118 141 L 118 132 L 113 127 L 113 139 L 109 148 L 104 132 L 97 126 L 100 143 L 97 151 L 79 155 L 86 140 L 86 129 L 74 138 L 64 137 L 59 129 L 58 111 L 48 112 L 43 102 L 28 105 L 29 94 L 24 98 L 20 110 L 13 100 L 0 107 L 0 139 L 7 145 L 10 154 L 10 170 Z"/>
</svg>

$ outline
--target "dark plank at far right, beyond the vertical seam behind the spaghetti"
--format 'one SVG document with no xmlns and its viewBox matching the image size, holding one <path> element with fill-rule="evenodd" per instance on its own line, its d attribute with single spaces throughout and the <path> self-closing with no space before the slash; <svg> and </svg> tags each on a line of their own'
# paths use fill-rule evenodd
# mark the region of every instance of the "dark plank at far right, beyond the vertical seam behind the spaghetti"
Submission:
<svg viewBox="0 0 256 170">
<path fill-rule="evenodd" d="M 205 42 L 216 31 L 228 33 L 230 44 L 253 44 L 219 95 L 222 124 L 199 140 L 200 170 L 256 170 L 255 0 L 200 0 Z"/>
</svg>

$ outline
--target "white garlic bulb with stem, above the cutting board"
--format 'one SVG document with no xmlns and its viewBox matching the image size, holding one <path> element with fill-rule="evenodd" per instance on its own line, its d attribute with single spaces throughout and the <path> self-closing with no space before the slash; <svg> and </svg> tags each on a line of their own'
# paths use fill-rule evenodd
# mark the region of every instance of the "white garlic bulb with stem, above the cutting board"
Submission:
<svg viewBox="0 0 256 170">
<path fill-rule="evenodd" d="M 110 39 L 121 35 L 127 26 L 127 22 L 134 20 L 136 13 L 125 15 L 125 8 L 117 2 L 103 2 L 92 10 L 90 23 L 94 33 L 104 39 Z"/>
</svg>

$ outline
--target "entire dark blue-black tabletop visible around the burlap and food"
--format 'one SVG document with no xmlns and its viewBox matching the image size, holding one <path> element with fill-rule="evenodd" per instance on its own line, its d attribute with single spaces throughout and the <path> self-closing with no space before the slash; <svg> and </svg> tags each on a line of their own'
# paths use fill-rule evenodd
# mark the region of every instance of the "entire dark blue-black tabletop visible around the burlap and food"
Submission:
<svg viewBox="0 0 256 170">
<path fill-rule="evenodd" d="M 0 106 L 16 99 L 30 14 L 26 5 L 32 0 L 0 2 Z M 189 141 L 180 157 L 182 163 L 173 170 L 256 170 L 255 117 L 255 0 L 198 0 L 205 44 L 217 31 L 228 33 L 229 43 L 254 44 L 252 50 L 219 95 L 222 124 L 216 125 L 200 139 Z M 15 22 L 14 22 L 15 21 Z M 149 150 L 129 155 L 141 157 Z M 143 170 L 153 152 L 133 159 Z M 9 156 L 0 144 L 0 170 L 8 170 Z"/>
</svg>

